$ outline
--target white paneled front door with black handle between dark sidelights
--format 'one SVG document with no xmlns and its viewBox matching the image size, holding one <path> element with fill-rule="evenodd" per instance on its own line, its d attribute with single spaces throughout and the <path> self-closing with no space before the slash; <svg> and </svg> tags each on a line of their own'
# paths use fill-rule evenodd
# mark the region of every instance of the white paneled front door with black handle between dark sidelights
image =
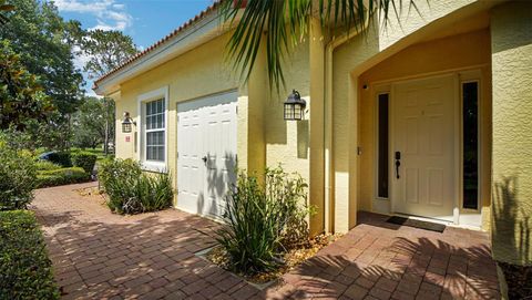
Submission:
<svg viewBox="0 0 532 300">
<path fill-rule="evenodd" d="M 454 86 L 452 75 L 392 85 L 390 162 L 396 213 L 452 219 L 458 176 Z"/>
</svg>

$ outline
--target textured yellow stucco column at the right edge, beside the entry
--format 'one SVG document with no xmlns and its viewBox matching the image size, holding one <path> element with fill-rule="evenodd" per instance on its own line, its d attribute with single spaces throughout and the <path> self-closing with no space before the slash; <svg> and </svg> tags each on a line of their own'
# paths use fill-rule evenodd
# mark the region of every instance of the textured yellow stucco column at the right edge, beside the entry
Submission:
<svg viewBox="0 0 532 300">
<path fill-rule="evenodd" d="M 532 2 L 491 11 L 493 257 L 532 265 Z"/>
</svg>

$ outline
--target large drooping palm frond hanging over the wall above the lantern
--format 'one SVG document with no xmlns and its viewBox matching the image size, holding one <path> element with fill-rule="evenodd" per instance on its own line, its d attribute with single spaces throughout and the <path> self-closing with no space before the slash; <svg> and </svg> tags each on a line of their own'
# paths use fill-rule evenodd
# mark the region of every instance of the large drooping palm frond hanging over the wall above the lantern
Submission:
<svg viewBox="0 0 532 300">
<path fill-rule="evenodd" d="M 235 22 L 239 8 L 246 3 Z M 284 83 L 282 63 L 290 46 L 306 33 L 310 0 L 235 0 L 223 1 L 221 13 L 225 21 L 236 23 L 228 42 L 229 59 L 246 81 L 253 71 L 260 45 L 266 45 L 268 80 L 279 87 Z"/>
</svg>

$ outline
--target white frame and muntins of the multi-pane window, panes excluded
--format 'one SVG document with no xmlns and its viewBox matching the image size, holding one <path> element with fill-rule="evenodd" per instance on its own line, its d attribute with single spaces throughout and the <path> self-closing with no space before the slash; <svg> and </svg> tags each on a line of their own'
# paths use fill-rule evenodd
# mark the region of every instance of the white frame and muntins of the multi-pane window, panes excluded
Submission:
<svg viewBox="0 0 532 300">
<path fill-rule="evenodd" d="M 146 110 L 145 104 L 147 102 L 156 101 L 164 99 L 164 127 L 157 130 L 150 130 L 145 128 L 146 124 L 144 124 L 144 118 L 146 117 Z M 140 137 L 137 139 L 137 148 L 140 149 L 139 162 L 141 162 L 142 168 L 150 172 L 158 172 L 158 173 L 166 173 L 167 165 L 168 165 L 168 86 L 163 86 L 157 90 L 153 90 L 146 92 L 144 94 L 139 95 L 137 97 L 137 112 L 139 112 L 139 128 L 140 128 Z M 147 132 L 160 132 L 164 130 L 164 162 L 156 162 L 156 161 L 147 161 L 146 159 L 146 133 Z"/>
</svg>

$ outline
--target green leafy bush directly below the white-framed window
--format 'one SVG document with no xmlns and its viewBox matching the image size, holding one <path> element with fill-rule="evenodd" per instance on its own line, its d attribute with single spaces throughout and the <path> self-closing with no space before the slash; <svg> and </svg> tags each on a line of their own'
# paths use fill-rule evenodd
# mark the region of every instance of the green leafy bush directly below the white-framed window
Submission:
<svg viewBox="0 0 532 300">
<path fill-rule="evenodd" d="M 168 174 L 145 174 L 132 159 L 108 159 L 99 168 L 108 206 L 117 214 L 140 214 L 172 206 L 174 190 Z"/>
</svg>

